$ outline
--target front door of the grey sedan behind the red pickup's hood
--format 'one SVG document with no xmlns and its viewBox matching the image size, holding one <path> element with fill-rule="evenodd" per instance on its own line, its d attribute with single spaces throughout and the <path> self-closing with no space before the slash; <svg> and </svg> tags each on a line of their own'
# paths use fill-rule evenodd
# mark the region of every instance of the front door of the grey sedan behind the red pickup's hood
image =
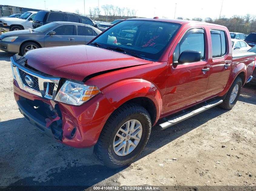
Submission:
<svg viewBox="0 0 256 191">
<path fill-rule="evenodd" d="M 61 25 L 52 31 L 55 35 L 45 35 L 45 47 L 75 45 L 75 25 Z"/>
</svg>

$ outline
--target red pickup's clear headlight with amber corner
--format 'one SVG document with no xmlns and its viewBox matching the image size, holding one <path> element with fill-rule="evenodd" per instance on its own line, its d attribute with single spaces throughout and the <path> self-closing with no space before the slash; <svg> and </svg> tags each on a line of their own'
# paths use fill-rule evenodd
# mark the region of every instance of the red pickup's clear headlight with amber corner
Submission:
<svg viewBox="0 0 256 191">
<path fill-rule="evenodd" d="M 81 105 L 100 93 L 96 86 L 87 86 L 72 81 L 65 81 L 58 91 L 55 100 L 71 105 Z"/>
</svg>

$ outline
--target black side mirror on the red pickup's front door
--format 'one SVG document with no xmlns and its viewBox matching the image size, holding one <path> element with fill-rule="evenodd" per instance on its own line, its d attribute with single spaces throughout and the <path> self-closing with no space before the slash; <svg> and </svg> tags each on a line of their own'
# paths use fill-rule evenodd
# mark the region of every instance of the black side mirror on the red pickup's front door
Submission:
<svg viewBox="0 0 256 191">
<path fill-rule="evenodd" d="M 178 63 L 175 62 L 175 64 L 198 62 L 200 60 L 201 60 L 201 52 L 198 52 L 196 50 L 185 50 L 179 56 Z"/>
</svg>

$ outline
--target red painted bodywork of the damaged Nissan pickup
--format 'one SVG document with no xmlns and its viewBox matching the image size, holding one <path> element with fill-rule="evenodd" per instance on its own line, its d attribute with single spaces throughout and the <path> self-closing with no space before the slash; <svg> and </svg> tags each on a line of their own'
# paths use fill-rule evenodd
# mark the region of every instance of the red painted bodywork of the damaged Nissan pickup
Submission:
<svg viewBox="0 0 256 191">
<path fill-rule="evenodd" d="M 232 60 L 229 35 L 226 36 L 227 54 L 223 58 L 212 59 L 210 30 L 221 29 L 229 34 L 226 27 L 183 20 L 148 18 L 135 20 L 181 24 L 158 62 L 85 45 L 35 49 L 26 54 L 28 65 L 40 72 L 61 78 L 82 81 L 88 75 L 111 70 L 105 74 L 99 73 L 85 82 L 86 85 L 97 86 L 101 93 L 81 106 L 55 101 L 62 113 L 63 144 L 77 148 L 95 145 L 111 113 L 133 98 L 147 97 L 154 103 L 155 125 L 160 118 L 212 97 L 223 96 L 238 75 L 244 75 L 245 83 L 252 74 L 255 56 Z M 191 28 L 203 28 L 205 31 L 205 59 L 200 62 L 173 65 L 175 47 Z M 229 63 L 230 66 L 224 68 L 224 64 Z M 210 70 L 204 74 L 201 71 L 203 68 Z M 113 71 L 113 69 L 118 70 Z M 13 88 L 15 100 L 19 100 L 22 96 L 30 100 L 42 100 L 50 105 L 53 103 L 19 89 L 16 81 L 13 82 Z M 78 130 L 71 138 L 70 132 L 74 126 Z"/>
</svg>

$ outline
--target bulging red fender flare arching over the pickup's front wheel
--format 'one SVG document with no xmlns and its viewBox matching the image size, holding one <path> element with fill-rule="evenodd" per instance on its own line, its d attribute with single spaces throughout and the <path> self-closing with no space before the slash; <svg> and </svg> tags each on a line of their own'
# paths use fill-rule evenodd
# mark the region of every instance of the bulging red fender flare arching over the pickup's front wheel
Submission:
<svg viewBox="0 0 256 191">
<path fill-rule="evenodd" d="M 114 109 L 117 109 L 123 103 L 133 98 L 147 97 L 155 104 L 155 123 L 159 119 L 162 110 L 162 97 L 158 88 L 150 81 L 144 79 L 126 79 L 108 86 L 102 90 L 102 93 L 109 100 Z"/>
</svg>

